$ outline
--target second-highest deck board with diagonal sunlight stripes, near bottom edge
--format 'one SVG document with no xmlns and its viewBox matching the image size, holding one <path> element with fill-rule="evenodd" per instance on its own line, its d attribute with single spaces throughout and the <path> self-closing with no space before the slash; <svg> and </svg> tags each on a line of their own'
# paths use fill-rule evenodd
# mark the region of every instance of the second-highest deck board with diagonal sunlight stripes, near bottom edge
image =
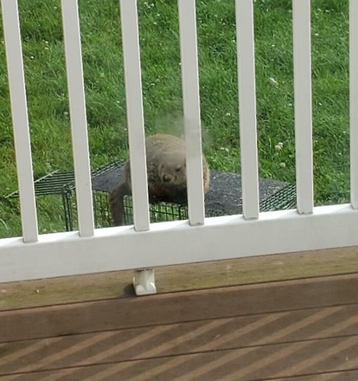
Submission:
<svg viewBox="0 0 358 381">
<path fill-rule="evenodd" d="M 357 367 L 358 336 L 351 336 L 14 374 L 12 377 L 29 381 L 54 381 L 58 375 L 66 375 L 61 378 L 66 380 L 199 381 L 200 378 L 204 378 L 220 381 L 256 381 L 345 371 Z M 0 380 L 11 379 L 8 377 L 0 377 Z"/>
</svg>

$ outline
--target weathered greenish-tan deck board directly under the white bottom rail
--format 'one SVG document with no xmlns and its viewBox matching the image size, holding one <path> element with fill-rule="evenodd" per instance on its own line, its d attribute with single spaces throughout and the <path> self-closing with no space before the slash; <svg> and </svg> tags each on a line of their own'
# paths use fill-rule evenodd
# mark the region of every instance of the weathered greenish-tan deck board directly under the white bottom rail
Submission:
<svg viewBox="0 0 358 381">
<path fill-rule="evenodd" d="M 236 286 L 358 272 L 358 247 L 166 266 L 158 292 Z M 0 283 L 0 310 L 117 299 L 133 295 L 132 271 Z"/>
</svg>

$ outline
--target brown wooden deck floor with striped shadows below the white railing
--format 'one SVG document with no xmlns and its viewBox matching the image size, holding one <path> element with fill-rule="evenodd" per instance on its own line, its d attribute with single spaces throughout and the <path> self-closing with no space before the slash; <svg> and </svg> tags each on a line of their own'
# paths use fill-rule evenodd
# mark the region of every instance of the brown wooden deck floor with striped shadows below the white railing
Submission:
<svg viewBox="0 0 358 381">
<path fill-rule="evenodd" d="M 72 293 L 76 303 L 69 278 L 39 281 L 39 289 L 34 281 L 2 284 L 0 381 L 357 381 L 352 270 L 141 298 L 125 288 L 120 297 L 88 301 L 82 288 L 85 301 Z M 65 304 L 41 306 L 50 304 L 49 294 L 40 301 L 46 282 L 55 294 L 62 284 Z M 37 303 L 24 299 L 30 289 Z"/>
</svg>

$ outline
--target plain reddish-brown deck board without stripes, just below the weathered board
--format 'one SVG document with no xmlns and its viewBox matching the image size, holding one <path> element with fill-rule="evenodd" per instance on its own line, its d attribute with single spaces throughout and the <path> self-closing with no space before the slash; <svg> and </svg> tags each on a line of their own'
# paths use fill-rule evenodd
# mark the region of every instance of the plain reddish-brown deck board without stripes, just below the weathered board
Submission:
<svg viewBox="0 0 358 381">
<path fill-rule="evenodd" d="M 350 274 L 4 311 L 0 342 L 353 304 L 357 289 Z"/>
</svg>

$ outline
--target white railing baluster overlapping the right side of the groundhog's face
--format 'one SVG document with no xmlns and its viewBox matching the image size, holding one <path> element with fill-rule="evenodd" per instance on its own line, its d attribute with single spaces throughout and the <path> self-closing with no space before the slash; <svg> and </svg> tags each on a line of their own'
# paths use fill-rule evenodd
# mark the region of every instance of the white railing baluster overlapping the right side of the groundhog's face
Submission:
<svg viewBox="0 0 358 381">
<path fill-rule="evenodd" d="M 191 225 L 205 219 L 195 0 L 178 0 L 186 142 L 188 215 Z"/>
</svg>

